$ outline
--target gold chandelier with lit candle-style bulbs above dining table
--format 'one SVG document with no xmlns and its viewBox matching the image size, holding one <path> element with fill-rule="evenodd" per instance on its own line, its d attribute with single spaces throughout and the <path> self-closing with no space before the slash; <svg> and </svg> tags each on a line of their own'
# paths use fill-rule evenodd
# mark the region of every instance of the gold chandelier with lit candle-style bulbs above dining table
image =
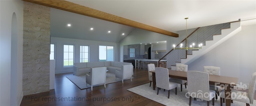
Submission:
<svg viewBox="0 0 256 106">
<path fill-rule="evenodd" d="M 184 18 L 186 20 L 186 47 L 182 47 L 182 43 L 180 44 L 180 48 L 175 48 L 175 45 L 173 45 L 173 49 L 201 49 L 202 48 L 202 43 L 198 45 L 198 47 L 195 47 L 195 43 L 192 43 L 190 47 L 188 47 L 188 32 L 187 32 L 187 20 L 188 18 Z"/>
</svg>

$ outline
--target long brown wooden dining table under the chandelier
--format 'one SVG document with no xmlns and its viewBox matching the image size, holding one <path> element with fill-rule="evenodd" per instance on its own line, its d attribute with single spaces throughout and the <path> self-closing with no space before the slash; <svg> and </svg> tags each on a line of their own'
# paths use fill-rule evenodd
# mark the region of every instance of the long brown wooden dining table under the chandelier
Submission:
<svg viewBox="0 0 256 106">
<path fill-rule="evenodd" d="M 174 79 L 181 79 L 187 80 L 187 72 L 184 71 L 175 71 L 175 70 L 168 70 L 169 77 Z M 152 73 L 152 82 L 153 82 L 153 90 L 156 89 L 156 73 L 155 71 L 150 71 Z M 227 77 L 227 76 L 220 76 L 220 75 L 209 75 L 209 84 L 211 85 L 220 85 L 225 87 L 225 100 L 226 106 L 231 105 L 231 86 L 235 86 L 238 82 L 238 78 L 236 77 Z"/>
</svg>

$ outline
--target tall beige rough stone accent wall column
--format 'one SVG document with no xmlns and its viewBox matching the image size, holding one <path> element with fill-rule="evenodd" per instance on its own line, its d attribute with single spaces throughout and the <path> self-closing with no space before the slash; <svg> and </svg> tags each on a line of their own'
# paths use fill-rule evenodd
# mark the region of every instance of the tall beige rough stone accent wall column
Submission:
<svg viewBox="0 0 256 106">
<path fill-rule="evenodd" d="M 50 89 L 50 7 L 24 1 L 23 94 Z"/>
</svg>

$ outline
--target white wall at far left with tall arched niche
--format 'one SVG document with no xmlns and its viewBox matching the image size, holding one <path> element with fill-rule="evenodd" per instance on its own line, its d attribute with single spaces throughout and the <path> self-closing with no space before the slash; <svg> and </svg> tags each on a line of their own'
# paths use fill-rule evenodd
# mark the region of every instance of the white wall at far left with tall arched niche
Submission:
<svg viewBox="0 0 256 106">
<path fill-rule="evenodd" d="M 16 14 L 17 25 L 12 26 L 12 16 Z M 17 106 L 22 100 L 22 55 L 23 55 L 23 1 L 0 0 L 0 106 Z M 15 18 L 14 18 L 15 19 Z M 16 43 L 11 43 L 12 27 L 17 27 Z M 11 65 L 11 44 L 16 44 L 16 65 Z M 16 93 L 11 91 L 11 67 L 16 69 Z M 13 89 L 12 89 L 13 90 Z"/>
</svg>

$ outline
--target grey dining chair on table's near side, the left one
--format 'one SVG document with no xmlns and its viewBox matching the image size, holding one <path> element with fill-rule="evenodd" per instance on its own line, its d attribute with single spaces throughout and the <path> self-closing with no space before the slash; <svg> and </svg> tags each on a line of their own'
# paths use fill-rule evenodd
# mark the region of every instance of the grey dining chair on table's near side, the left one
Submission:
<svg viewBox="0 0 256 106">
<path fill-rule="evenodd" d="M 156 67 L 156 86 L 157 86 L 157 94 L 159 93 L 159 89 L 162 88 L 164 90 L 168 90 L 168 98 L 170 97 L 170 90 L 175 88 L 175 94 L 177 95 L 177 86 L 178 84 L 175 82 L 169 81 L 169 71 L 163 67 Z"/>
</svg>

